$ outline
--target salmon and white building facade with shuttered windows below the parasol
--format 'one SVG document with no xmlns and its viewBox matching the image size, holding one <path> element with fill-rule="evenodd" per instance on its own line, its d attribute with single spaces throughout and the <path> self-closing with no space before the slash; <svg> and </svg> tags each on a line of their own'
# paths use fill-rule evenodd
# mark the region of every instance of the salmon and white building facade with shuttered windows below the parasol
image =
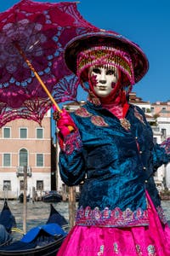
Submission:
<svg viewBox="0 0 170 256">
<path fill-rule="evenodd" d="M 27 119 L 16 119 L 0 129 L 0 198 L 16 199 L 24 189 L 27 195 L 36 190 L 51 190 L 51 113 L 42 125 Z M 54 171 L 55 172 L 55 171 Z"/>
</svg>

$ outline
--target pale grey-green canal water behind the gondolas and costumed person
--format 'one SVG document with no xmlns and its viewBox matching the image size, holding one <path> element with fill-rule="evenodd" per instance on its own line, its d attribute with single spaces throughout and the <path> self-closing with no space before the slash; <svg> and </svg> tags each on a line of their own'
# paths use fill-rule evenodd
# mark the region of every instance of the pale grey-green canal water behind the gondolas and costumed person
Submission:
<svg viewBox="0 0 170 256">
<path fill-rule="evenodd" d="M 3 200 L 0 201 L 0 211 L 3 209 Z M 69 220 L 68 202 L 53 203 L 54 208 Z M 8 201 L 8 207 L 13 212 L 17 227 L 23 230 L 23 203 Z M 170 201 L 161 201 L 168 223 L 170 224 Z M 45 224 L 50 213 L 50 204 L 43 201 L 27 202 L 26 230 L 37 225 Z"/>
</svg>

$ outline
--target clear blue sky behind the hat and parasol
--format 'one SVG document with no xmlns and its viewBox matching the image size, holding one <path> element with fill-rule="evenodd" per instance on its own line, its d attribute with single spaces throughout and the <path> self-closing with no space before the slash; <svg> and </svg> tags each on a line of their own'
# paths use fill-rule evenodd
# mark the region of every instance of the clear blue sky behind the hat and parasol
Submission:
<svg viewBox="0 0 170 256">
<path fill-rule="evenodd" d="M 0 11 L 4 11 L 19 1 L 1 2 L 3 3 L 0 4 Z M 170 100 L 169 0 L 82 0 L 77 3 L 77 9 L 83 18 L 94 26 L 119 32 L 144 50 L 150 62 L 150 69 L 144 79 L 133 87 L 137 96 L 150 102 Z M 78 99 L 86 99 L 82 90 L 79 90 Z"/>
</svg>

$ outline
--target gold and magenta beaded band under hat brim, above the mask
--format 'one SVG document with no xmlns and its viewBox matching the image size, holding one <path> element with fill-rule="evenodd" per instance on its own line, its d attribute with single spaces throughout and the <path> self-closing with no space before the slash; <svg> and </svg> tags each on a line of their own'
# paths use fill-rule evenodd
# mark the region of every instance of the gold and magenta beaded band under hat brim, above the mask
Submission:
<svg viewBox="0 0 170 256">
<path fill-rule="evenodd" d="M 133 63 L 130 55 L 121 49 L 108 46 L 95 46 L 82 50 L 77 56 L 77 76 L 81 78 L 83 71 L 92 66 L 120 68 L 127 75 L 130 84 L 134 84 Z"/>
</svg>

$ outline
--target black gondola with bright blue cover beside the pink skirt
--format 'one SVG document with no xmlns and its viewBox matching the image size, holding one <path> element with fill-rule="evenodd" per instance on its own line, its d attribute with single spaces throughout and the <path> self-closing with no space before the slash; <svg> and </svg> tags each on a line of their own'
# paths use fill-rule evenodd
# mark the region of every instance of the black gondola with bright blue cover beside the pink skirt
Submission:
<svg viewBox="0 0 170 256">
<path fill-rule="evenodd" d="M 56 256 L 67 235 L 65 218 L 50 204 L 50 214 L 46 224 L 29 230 L 20 241 L 0 247 L 0 255 L 6 256 Z"/>
</svg>

